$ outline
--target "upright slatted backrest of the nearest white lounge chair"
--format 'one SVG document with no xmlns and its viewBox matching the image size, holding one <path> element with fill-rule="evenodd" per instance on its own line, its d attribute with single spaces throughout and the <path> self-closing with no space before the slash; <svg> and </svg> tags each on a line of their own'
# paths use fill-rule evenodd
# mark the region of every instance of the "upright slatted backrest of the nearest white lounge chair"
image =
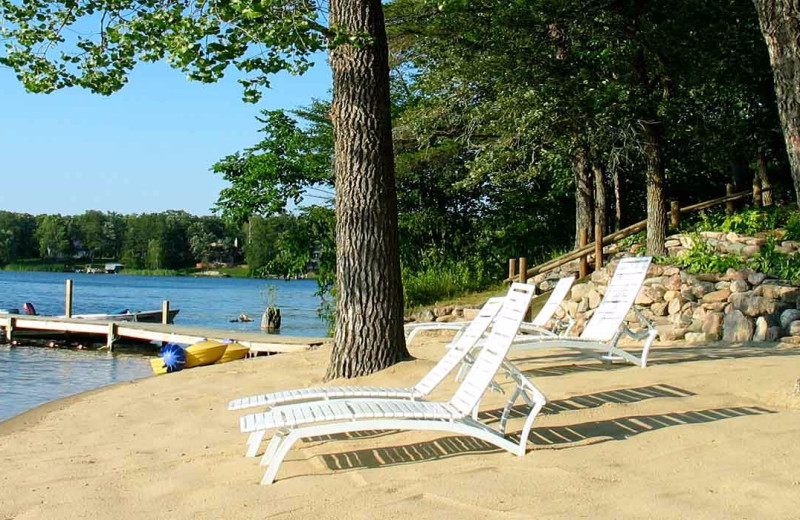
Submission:
<svg viewBox="0 0 800 520">
<path fill-rule="evenodd" d="M 528 311 L 533 290 L 533 286 L 523 283 L 512 284 L 508 290 L 503 306 L 492 324 L 491 334 L 486 338 L 483 348 L 461 386 L 450 399 L 450 405 L 464 415 L 469 414 L 480 403 L 481 397 L 503 363 Z"/>
</svg>

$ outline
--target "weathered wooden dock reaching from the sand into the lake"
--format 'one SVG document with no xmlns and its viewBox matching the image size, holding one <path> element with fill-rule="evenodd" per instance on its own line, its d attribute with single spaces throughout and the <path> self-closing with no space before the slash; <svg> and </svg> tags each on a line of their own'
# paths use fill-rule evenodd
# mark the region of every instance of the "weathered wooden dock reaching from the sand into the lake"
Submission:
<svg viewBox="0 0 800 520">
<path fill-rule="evenodd" d="M 141 322 L 109 322 L 82 318 L 0 314 L 0 328 L 11 341 L 16 334 L 35 337 L 37 334 L 75 334 L 93 336 L 106 341 L 113 349 L 118 340 L 161 341 L 191 345 L 205 339 L 232 339 L 249 347 L 251 353 L 300 352 L 329 344 L 331 338 L 282 336 L 264 332 L 211 329 L 183 325 Z"/>
</svg>

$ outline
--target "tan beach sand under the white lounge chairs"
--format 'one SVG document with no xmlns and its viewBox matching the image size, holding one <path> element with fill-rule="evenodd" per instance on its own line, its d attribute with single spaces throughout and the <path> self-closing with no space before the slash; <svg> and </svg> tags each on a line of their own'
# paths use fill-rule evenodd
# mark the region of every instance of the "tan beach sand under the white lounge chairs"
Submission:
<svg viewBox="0 0 800 520">
<path fill-rule="evenodd" d="M 417 359 L 349 383 L 407 386 L 445 339 L 427 335 Z M 375 432 L 298 443 L 275 484 L 258 485 L 264 468 L 242 456 L 228 401 L 320 384 L 328 355 L 122 383 L 1 423 L 0 520 L 800 518 L 800 347 L 667 345 L 647 369 L 524 353 L 518 366 L 550 401 L 524 457 Z M 482 417 L 503 403 L 490 393 Z"/>
</svg>

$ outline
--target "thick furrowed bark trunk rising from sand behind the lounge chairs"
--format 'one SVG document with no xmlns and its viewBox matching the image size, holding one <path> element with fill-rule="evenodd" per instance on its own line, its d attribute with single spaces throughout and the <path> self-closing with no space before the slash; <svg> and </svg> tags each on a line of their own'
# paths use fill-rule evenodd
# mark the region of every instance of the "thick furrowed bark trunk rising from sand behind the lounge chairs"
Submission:
<svg viewBox="0 0 800 520">
<path fill-rule="evenodd" d="M 373 40 L 330 52 L 337 314 L 327 379 L 370 374 L 408 357 L 381 2 L 331 0 L 330 24 Z"/>
</svg>

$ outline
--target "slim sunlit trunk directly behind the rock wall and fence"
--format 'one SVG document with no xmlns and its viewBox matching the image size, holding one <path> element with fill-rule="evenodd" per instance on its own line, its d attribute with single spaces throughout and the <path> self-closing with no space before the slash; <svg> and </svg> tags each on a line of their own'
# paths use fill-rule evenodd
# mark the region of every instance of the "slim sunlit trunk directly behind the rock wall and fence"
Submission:
<svg viewBox="0 0 800 520">
<path fill-rule="evenodd" d="M 667 199 L 664 193 L 664 165 L 661 162 L 661 126 L 642 121 L 647 160 L 647 254 L 665 256 L 667 248 Z"/>
</svg>

